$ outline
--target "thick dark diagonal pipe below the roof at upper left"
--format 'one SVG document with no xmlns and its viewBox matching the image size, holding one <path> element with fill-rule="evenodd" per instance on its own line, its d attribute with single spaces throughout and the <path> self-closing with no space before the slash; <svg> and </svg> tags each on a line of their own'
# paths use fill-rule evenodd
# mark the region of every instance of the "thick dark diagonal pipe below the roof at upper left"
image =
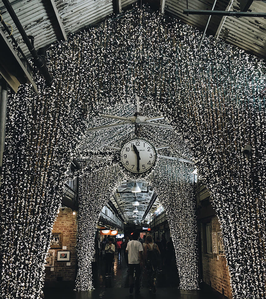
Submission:
<svg viewBox="0 0 266 299">
<path fill-rule="evenodd" d="M 17 26 L 17 29 L 22 36 L 22 39 L 24 40 L 29 51 L 31 52 L 34 65 L 39 69 L 40 73 L 42 74 L 42 76 L 45 80 L 46 85 L 50 87 L 53 83 L 53 77 L 50 75 L 49 70 L 46 66 L 46 60 L 41 55 L 38 55 L 37 51 L 35 50 L 34 46 L 32 45 L 31 41 L 29 40 L 27 33 L 25 32 L 24 28 L 22 27 L 21 22 L 19 21 L 10 2 L 8 0 L 3 0 L 2 2 L 4 3 L 8 13 L 12 17 L 12 20 L 14 21 L 15 25 Z"/>
</svg>

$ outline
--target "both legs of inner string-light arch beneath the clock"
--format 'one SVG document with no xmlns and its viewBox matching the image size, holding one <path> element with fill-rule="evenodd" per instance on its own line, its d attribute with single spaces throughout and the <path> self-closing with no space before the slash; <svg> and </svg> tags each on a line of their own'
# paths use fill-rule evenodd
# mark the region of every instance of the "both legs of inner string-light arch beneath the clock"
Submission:
<svg viewBox="0 0 266 299">
<path fill-rule="evenodd" d="M 151 174 L 143 175 L 165 207 L 176 250 L 179 286 L 198 289 L 196 256 L 196 204 L 193 200 L 191 167 L 176 161 L 160 159 Z M 91 163 L 80 180 L 78 218 L 76 290 L 93 288 L 91 263 L 94 257 L 94 238 L 99 213 L 128 174 L 118 163 Z M 164 182 L 162 184 L 162 181 Z"/>
</svg>

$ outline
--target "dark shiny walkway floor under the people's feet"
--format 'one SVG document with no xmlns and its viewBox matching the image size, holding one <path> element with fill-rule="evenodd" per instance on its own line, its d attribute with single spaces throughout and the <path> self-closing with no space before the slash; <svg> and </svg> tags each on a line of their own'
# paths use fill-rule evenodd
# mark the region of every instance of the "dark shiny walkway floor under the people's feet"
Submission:
<svg viewBox="0 0 266 299">
<path fill-rule="evenodd" d="M 152 294 L 147 287 L 147 277 L 145 272 L 142 274 L 142 288 L 140 295 L 129 294 L 129 282 L 127 267 L 124 259 L 115 257 L 114 271 L 112 277 L 104 278 L 104 261 L 98 263 L 97 269 L 94 269 L 95 290 L 87 292 L 75 292 L 73 286 L 45 288 L 45 299 L 133 299 L 133 298 L 167 298 L 167 299 L 216 299 L 219 298 L 216 293 L 211 291 L 198 292 L 180 292 L 178 288 L 179 279 L 177 268 L 174 261 L 163 268 L 163 271 L 157 275 L 157 292 Z"/>
</svg>

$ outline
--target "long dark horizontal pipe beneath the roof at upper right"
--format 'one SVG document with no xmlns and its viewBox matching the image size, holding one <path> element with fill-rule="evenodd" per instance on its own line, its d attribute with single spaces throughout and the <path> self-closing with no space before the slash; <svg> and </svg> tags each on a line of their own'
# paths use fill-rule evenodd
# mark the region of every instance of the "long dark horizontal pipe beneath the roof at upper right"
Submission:
<svg viewBox="0 0 266 299">
<path fill-rule="evenodd" d="M 196 10 L 196 9 L 184 9 L 183 14 L 189 15 L 212 15 L 212 16 L 228 16 L 228 17 L 266 17 L 266 12 L 233 12 L 223 10 Z"/>
</svg>

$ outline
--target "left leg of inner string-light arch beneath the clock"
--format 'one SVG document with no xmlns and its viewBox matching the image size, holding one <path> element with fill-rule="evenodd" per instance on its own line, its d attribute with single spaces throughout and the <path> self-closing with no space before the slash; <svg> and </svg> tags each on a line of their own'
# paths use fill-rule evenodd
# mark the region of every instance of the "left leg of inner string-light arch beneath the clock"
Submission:
<svg viewBox="0 0 266 299">
<path fill-rule="evenodd" d="M 102 208 L 122 179 L 118 164 L 112 165 L 109 161 L 91 164 L 80 175 L 76 278 L 76 290 L 79 291 L 93 289 L 91 263 L 96 225 Z"/>
</svg>

